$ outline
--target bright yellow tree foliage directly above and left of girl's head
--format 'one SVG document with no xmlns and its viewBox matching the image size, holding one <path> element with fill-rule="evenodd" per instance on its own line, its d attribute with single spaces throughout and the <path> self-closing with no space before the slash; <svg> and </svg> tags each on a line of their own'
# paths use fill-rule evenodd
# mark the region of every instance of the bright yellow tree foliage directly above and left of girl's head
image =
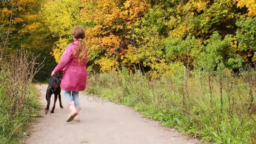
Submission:
<svg viewBox="0 0 256 144">
<path fill-rule="evenodd" d="M 72 41 L 71 31 L 80 23 L 80 0 L 44 0 L 42 18 L 55 41 L 53 56 L 59 62 L 67 44 Z"/>
</svg>

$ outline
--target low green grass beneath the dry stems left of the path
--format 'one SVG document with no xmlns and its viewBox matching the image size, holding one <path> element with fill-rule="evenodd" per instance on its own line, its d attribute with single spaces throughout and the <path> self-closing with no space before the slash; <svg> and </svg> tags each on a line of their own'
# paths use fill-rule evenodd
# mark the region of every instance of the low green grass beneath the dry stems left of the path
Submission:
<svg viewBox="0 0 256 144">
<path fill-rule="evenodd" d="M 31 128 L 34 117 L 38 117 L 40 103 L 38 92 L 34 85 L 31 85 L 29 100 L 24 107 L 12 115 L 5 107 L 0 109 L 0 144 L 20 144 L 20 139 L 27 138 L 27 131 Z M 0 94 L 0 99 L 3 96 Z M 4 101 L 0 102 L 3 106 Z"/>
</svg>

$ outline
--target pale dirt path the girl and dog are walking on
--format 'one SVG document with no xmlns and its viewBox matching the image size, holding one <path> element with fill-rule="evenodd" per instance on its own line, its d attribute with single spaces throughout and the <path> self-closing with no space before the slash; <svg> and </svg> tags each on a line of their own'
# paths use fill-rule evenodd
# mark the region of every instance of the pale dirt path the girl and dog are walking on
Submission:
<svg viewBox="0 0 256 144">
<path fill-rule="evenodd" d="M 46 105 L 46 85 L 37 86 L 40 101 Z M 67 104 L 64 109 L 56 102 L 54 114 L 44 115 L 32 128 L 32 135 L 26 144 L 195 144 L 195 139 L 158 125 L 157 122 L 143 118 L 133 110 L 106 101 L 80 94 L 80 123 L 66 123 Z M 53 104 L 53 96 L 51 107 Z M 50 107 L 50 108 L 51 108 Z M 43 113 L 43 112 L 42 112 Z"/>
</svg>

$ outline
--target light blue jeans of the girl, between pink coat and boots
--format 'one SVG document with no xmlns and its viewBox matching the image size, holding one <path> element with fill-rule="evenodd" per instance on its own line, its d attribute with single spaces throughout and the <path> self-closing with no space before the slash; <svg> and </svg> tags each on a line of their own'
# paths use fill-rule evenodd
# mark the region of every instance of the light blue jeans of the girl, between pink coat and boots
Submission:
<svg viewBox="0 0 256 144">
<path fill-rule="evenodd" d="M 64 100 L 68 102 L 68 104 L 72 101 L 75 101 L 75 107 L 80 108 L 78 91 L 65 91 L 64 90 Z"/>
</svg>

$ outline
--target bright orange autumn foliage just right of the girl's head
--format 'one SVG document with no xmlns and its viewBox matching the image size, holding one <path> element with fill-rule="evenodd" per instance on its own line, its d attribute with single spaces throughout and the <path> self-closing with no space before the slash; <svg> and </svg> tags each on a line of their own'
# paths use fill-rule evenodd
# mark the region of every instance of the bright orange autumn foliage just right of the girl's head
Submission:
<svg viewBox="0 0 256 144">
<path fill-rule="evenodd" d="M 146 0 L 82 0 L 81 21 L 93 22 L 86 30 L 88 45 L 105 55 L 96 62 L 101 72 L 117 68 L 120 64 L 133 64 L 135 54 L 128 48 L 131 29 L 147 10 Z"/>
</svg>

